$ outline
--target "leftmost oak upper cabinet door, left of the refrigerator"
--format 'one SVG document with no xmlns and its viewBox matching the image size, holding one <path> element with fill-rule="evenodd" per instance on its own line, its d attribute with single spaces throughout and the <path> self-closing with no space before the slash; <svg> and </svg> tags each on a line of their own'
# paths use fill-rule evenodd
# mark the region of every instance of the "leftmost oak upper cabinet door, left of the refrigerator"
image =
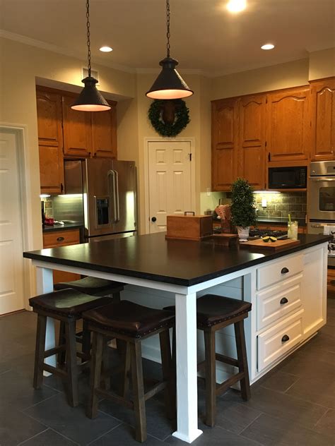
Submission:
<svg viewBox="0 0 335 446">
<path fill-rule="evenodd" d="M 36 91 L 41 193 L 63 193 L 61 95 Z"/>
</svg>

